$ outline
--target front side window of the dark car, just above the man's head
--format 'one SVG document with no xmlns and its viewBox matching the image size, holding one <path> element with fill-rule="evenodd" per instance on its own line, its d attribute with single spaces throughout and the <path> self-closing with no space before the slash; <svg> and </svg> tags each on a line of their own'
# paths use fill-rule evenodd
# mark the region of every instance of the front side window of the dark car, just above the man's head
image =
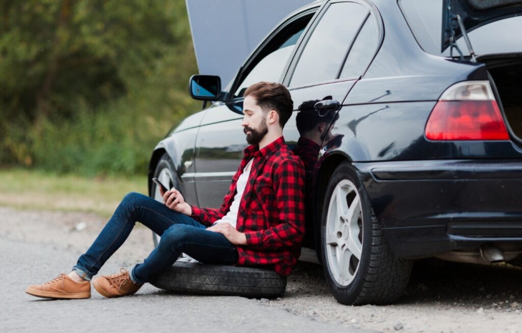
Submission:
<svg viewBox="0 0 522 333">
<path fill-rule="evenodd" d="M 234 98 L 243 97 L 246 88 L 259 81 L 278 82 L 295 44 L 312 16 L 313 14 L 310 14 L 296 20 L 272 38 L 259 54 L 258 59 L 250 66 L 250 72 L 237 86 Z"/>
</svg>

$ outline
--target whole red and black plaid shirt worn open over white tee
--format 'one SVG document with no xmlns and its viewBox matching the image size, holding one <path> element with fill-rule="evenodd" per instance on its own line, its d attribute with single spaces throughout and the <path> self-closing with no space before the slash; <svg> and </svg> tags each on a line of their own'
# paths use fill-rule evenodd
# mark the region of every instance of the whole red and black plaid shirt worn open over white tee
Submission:
<svg viewBox="0 0 522 333">
<path fill-rule="evenodd" d="M 192 217 L 211 225 L 226 215 L 236 182 L 253 158 L 236 224 L 247 242 L 238 246 L 238 265 L 274 265 L 278 274 L 288 275 L 301 253 L 304 236 L 304 166 L 283 137 L 261 150 L 258 145 L 248 146 L 244 153 L 221 208 L 191 206 Z"/>
</svg>

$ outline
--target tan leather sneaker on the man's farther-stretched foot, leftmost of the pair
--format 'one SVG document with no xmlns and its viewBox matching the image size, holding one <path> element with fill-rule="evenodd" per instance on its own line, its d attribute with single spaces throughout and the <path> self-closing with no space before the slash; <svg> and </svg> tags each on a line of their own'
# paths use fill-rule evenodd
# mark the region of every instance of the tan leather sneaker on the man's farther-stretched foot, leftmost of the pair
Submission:
<svg viewBox="0 0 522 333">
<path fill-rule="evenodd" d="M 27 287 L 26 292 L 42 298 L 89 298 L 91 297 L 91 283 L 89 281 L 76 282 L 62 273 L 53 280 L 43 283 L 43 285 Z"/>
</svg>

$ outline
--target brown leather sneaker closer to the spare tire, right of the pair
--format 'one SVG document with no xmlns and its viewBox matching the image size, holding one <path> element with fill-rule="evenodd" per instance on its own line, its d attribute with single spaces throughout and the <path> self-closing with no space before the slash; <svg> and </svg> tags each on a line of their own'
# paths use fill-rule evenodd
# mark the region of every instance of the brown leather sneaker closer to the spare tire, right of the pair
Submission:
<svg viewBox="0 0 522 333">
<path fill-rule="evenodd" d="M 120 272 L 113 275 L 102 275 L 92 280 L 94 289 L 103 296 L 112 298 L 132 295 L 143 286 L 134 283 L 125 268 L 121 268 Z"/>
</svg>

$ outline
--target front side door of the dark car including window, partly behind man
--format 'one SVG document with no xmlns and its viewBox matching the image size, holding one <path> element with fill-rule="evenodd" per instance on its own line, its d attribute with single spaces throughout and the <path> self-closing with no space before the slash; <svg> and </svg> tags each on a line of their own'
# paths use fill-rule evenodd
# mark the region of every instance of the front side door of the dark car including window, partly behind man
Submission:
<svg viewBox="0 0 522 333">
<path fill-rule="evenodd" d="M 292 16 L 275 29 L 241 67 L 229 85 L 227 101 L 215 103 L 205 114 L 196 139 L 193 175 L 199 206 L 221 205 L 243 157 L 247 146 L 241 127 L 244 91 L 259 81 L 282 81 L 295 46 L 318 7 Z"/>
</svg>

